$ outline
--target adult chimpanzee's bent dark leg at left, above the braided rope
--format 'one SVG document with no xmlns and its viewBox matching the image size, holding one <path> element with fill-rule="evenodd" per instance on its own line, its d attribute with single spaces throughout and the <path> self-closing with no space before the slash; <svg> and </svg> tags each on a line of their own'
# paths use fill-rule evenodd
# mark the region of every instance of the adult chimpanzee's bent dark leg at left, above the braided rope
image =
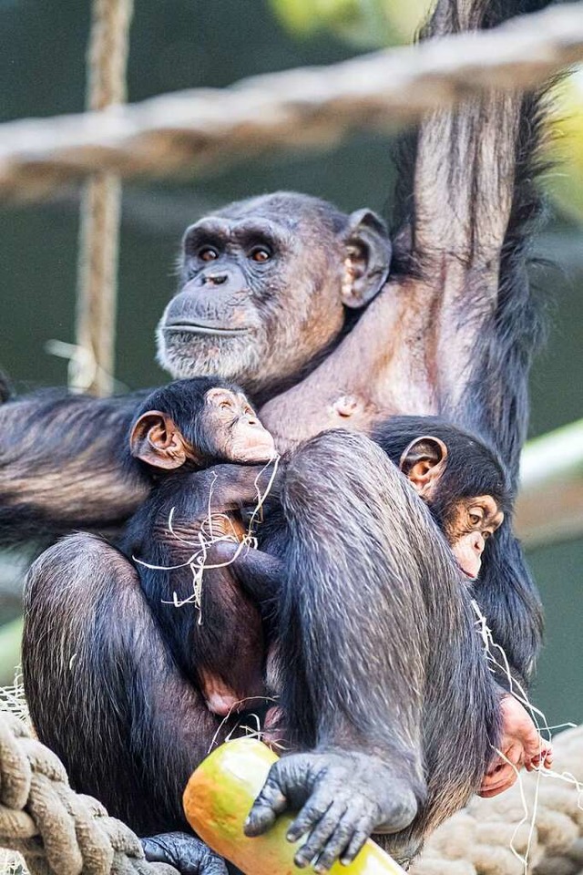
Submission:
<svg viewBox="0 0 583 875">
<path fill-rule="evenodd" d="M 218 732 L 169 655 L 136 571 L 104 540 L 72 535 L 32 566 L 23 671 L 36 731 L 73 787 L 138 834 L 188 829 L 182 791 L 230 727 Z"/>
</svg>

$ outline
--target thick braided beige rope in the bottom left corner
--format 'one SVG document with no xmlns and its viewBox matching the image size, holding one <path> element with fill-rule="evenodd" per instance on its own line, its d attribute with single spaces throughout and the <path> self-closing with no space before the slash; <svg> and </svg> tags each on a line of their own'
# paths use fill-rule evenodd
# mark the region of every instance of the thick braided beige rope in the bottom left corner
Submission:
<svg viewBox="0 0 583 875">
<path fill-rule="evenodd" d="M 33 875 L 176 875 L 148 863 L 138 837 L 69 787 L 65 767 L 15 715 L 0 713 L 0 847 Z"/>
</svg>

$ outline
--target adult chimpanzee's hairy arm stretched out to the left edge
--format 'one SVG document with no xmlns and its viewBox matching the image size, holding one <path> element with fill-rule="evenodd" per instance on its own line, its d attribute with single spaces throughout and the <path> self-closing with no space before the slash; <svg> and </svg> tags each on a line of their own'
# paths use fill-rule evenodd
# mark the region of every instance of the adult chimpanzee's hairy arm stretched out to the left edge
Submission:
<svg viewBox="0 0 583 875">
<path fill-rule="evenodd" d="M 124 470 L 119 448 L 143 395 L 49 391 L 0 406 L 0 545 L 128 518 L 148 488 Z"/>
</svg>

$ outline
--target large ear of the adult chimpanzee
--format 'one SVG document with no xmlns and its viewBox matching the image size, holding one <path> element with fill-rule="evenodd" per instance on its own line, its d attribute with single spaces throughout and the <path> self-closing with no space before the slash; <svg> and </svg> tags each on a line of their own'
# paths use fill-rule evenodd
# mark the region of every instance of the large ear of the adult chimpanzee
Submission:
<svg viewBox="0 0 583 875">
<path fill-rule="evenodd" d="M 357 309 L 383 288 L 393 248 L 384 221 L 371 210 L 353 212 L 344 246 L 343 304 Z"/>
</svg>

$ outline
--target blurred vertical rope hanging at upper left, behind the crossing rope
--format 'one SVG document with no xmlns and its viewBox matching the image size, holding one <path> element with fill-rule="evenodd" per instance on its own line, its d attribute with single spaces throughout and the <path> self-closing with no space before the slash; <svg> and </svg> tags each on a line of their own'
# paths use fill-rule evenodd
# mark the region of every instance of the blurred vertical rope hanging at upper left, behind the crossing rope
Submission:
<svg viewBox="0 0 583 875">
<path fill-rule="evenodd" d="M 128 33 L 133 0 L 94 0 L 87 58 L 87 109 L 126 100 Z M 121 183 L 97 173 L 81 202 L 77 265 L 77 351 L 69 385 L 97 396 L 113 387 Z"/>
</svg>

